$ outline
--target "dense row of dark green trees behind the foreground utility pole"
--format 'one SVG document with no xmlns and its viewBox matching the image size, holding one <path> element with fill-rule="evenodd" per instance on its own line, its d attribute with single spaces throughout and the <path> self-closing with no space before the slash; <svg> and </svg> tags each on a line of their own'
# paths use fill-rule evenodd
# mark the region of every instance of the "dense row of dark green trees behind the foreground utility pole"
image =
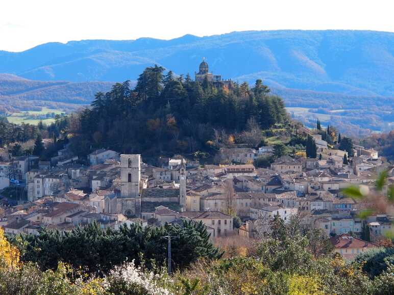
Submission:
<svg viewBox="0 0 394 295">
<path fill-rule="evenodd" d="M 150 266 L 151 261 L 162 266 L 167 258 L 167 243 L 162 238 L 165 235 L 178 237 L 171 243 L 177 268 L 183 269 L 201 257 L 217 259 L 223 255 L 212 244 L 206 226 L 190 220 L 181 226 L 142 227 L 133 224 L 122 226 L 119 231 L 102 229 L 95 222 L 69 233 L 43 229 L 38 235 L 22 236 L 26 251 L 21 259 L 37 262 L 45 270 L 56 269 L 58 262 L 64 261 L 75 269 L 82 266 L 89 273 L 102 274 L 127 259 L 139 265 L 142 256 L 146 266 Z"/>
</svg>

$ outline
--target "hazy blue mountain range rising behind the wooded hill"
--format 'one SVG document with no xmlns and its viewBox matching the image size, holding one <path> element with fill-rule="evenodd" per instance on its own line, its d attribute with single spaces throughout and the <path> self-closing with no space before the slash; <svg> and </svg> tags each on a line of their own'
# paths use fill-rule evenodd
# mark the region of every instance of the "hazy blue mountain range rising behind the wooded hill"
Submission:
<svg viewBox="0 0 394 295">
<path fill-rule="evenodd" d="M 373 114 L 382 121 L 373 129 L 391 128 L 394 122 L 394 33 L 386 32 L 248 31 L 172 40 L 47 43 L 22 52 L 0 51 L 0 73 L 18 76 L 8 75 L 8 85 L 11 77 L 32 88 L 47 81 L 40 95 L 33 89 L 14 97 L 81 104 L 92 99 L 95 88 L 105 91 L 108 82 L 135 81 L 154 64 L 193 76 L 203 57 L 209 70 L 223 78 L 251 84 L 262 78 L 289 106 L 355 110 L 380 102 L 385 113 Z M 0 96 L 5 95 L 2 88 L 0 84 Z"/>
</svg>

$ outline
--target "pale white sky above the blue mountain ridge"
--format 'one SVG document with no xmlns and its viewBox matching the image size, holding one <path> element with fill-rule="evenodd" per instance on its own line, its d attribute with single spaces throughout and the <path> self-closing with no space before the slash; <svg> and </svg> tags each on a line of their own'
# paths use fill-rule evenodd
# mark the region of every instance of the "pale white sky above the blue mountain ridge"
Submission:
<svg viewBox="0 0 394 295">
<path fill-rule="evenodd" d="M 390 0 L 1 0 L 0 50 L 82 39 L 171 39 L 245 30 L 394 32 Z"/>
</svg>

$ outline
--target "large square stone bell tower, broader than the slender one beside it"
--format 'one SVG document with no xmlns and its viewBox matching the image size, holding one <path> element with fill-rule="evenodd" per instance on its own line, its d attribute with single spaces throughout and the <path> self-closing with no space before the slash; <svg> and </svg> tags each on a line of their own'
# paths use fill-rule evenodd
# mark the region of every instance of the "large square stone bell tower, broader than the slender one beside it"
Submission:
<svg viewBox="0 0 394 295">
<path fill-rule="evenodd" d="M 140 216 L 141 155 L 120 155 L 120 198 L 117 210 L 126 216 Z"/>
</svg>

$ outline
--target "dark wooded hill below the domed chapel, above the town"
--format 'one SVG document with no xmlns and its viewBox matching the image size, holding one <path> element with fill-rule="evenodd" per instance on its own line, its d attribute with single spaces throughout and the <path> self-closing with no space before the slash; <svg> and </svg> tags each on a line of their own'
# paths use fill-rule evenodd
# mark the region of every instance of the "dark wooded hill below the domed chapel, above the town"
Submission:
<svg viewBox="0 0 394 295">
<path fill-rule="evenodd" d="M 97 93 L 91 107 L 70 122 L 75 152 L 86 155 L 99 147 L 145 155 L 209 152 L 221 144 L 253 142 L 253 132 L 260 141 L 261 129 L 288 122 L 283 100 L 270 95 L 260 79 L 253 88 L 242 83 L 228 89 L 163 72 L 148 67 L 135 89 L 124 82 Z M 243 131 L 250 134 L 237 137 Z"/>
</svg>

